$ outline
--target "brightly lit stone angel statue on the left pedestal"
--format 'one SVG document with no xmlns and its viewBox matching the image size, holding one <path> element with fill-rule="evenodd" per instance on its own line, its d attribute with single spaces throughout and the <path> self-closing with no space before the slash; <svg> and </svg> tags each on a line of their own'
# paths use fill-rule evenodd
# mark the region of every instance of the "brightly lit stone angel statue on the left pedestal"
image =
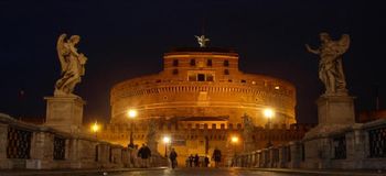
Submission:
<svg viewBox="0 0 386 176">
<path fill-rule="evenodd" d="M 81 82 L 81 76 L 85 75 L 85 64 L 87 57 L 77 52 L 75 47 L 79 42 L 78 35 L 72 35 L 66 38 L 62 34 L 57 40 L 57 55 L 62 66 L 62 78 L 55 84 L 54 95 L 71 95 L 75 85 Z"/>
</svg>

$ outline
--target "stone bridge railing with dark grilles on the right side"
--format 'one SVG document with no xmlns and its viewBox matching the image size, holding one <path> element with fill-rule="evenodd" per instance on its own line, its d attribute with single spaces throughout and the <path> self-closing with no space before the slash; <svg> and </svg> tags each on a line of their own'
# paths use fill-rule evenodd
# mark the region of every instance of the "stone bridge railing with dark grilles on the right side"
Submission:
<svg viewBox="0 0 386 176">
<path fill-rule="evenodd" d="M 235 155 L 230 166 L 262 168 L 386 169 L 386 119 L 357 123 L 321 139 Z"/>
</svg>

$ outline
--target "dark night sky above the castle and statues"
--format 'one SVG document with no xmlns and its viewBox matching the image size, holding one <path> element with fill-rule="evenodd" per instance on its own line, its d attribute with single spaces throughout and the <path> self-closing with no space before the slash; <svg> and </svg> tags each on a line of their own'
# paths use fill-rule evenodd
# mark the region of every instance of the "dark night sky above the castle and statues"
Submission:
<svg viewBox="0 0 386 176">
<path fill-rule="evenodd" d="M 315 99 L 323 91 L 318 56 L 319 33 L 351 35 L 344 72 L 356 110 L 386 107 L 386 8 L 352 0 L 0 0 L 0 112 L 44 117 L 43 97 L 60 78 L 56 40 L 78 34 L 88 57 L 75 94 L 87 101 L 87 119 L 108 119 L 114 84 L 162 69 L 173 46 L 196 46 L 203 32 L 211 46 L 235 47 L 240 69 L 287 79 L 297 87 L 297 118 L 317 122 Z M 378 85 L 378 86 L 376 86 Z M 24 90 L 21 100 L 19 92 Z"/>
</svg>

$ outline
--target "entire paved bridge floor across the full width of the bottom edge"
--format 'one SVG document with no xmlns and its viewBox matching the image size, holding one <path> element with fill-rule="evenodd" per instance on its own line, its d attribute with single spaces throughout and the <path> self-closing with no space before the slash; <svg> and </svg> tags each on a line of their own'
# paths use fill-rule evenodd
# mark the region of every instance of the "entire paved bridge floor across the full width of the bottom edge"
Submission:
<svg viewBox="0 0 386 176">
<path fill-rule="evenodd" d="M 386 170 L 319 170 L 282 168 L 124 168 L 77 170 L 0 170 L 0 176 L 386 176 Z"/>
</svg>

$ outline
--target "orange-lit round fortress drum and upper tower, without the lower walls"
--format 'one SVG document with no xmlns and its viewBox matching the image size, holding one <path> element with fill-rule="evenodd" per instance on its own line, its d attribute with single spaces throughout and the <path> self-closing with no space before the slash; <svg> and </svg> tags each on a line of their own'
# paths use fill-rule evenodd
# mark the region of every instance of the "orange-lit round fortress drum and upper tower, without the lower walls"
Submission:
<svg viewBox="0 0 386 176">
<path fill-rule="evenodd" d="M 138 119 L 242 124 L 248 114 L 255 125 L 265 125 L 266 108 L 276 111 L 274 123 L 296 123 L 294 86 L 240 72 L 238 54 L 227 48 L 171 50 L 162 72 L 119 82 L 110 96 L 111 123 L 127 122 L 126 111 L 137 109 Z"/>
</svg>

